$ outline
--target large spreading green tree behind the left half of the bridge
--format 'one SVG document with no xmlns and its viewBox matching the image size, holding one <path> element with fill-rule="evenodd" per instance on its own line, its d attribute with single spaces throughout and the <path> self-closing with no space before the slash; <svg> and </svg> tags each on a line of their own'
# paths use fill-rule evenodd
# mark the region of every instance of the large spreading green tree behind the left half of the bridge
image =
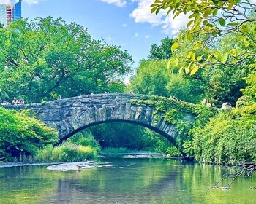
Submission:
<svg viewBox="0 0 256 204">
<path fill-rule="evenodd" d="M 61 18 L 18 20 L 0 28 L 0 97 L 27 102 L 104 93 L 132 71 L 120 47 L 91 38 Z M 111 88 L 113 90 L 113 88 Z"/>
</svg>

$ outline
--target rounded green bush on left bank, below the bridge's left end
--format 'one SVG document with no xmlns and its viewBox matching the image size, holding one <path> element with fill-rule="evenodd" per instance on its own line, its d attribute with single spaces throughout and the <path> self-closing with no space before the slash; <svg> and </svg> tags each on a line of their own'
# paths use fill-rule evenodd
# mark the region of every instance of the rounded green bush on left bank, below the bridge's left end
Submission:
<svg viewBox="0 0 256 204">
<path fill-rule="evenodd" d="M 35 154 L 37 149 L 58 141 L 56 130 L 29 116 L 29 111 L 14 111 L 0 107 L 0 157 Z"/>
</svg>

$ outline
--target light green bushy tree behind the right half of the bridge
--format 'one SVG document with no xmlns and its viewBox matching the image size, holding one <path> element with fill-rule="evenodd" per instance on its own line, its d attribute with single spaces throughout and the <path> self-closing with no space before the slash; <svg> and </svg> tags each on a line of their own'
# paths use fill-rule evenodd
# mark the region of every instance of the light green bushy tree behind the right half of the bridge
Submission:
<svg viewBox="0 0 256 204">
<path fill-rule="evenodd" d="M 172 57 L 173 58 L 173 57 Z M 167 69 L 167 60 L 142 60 L 131 79 L 129 90 L 147 95 L 175 96 L 182 101 L 197 103 L 203 99 L 203 86 L 199 80 L 188 79 Z M 175 67 L 172 63 L 173 68 Z"/>
</svg>

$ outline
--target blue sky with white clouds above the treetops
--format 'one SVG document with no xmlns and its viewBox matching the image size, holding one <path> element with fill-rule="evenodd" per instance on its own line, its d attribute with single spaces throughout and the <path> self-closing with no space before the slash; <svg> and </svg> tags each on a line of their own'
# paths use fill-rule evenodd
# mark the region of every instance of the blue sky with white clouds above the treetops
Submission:
<svg viewBox="0 0 256 204">
<path fill-rule="evenodd" d="M 0 4 L 15 0 L 0 0 Z M 151 44 L 172 36 L 187 22 L 179 16 L 173 20 L 164 12 L 150 14 L 153 0 L 23 0 L 22 15 L 34 17 L 61 17 L 67 23 L 75 22 L 88 28 L 94 39 L 105 39 L 108 44 L 128 50 L 135 60 L 147 58 Z"/>
</svg>

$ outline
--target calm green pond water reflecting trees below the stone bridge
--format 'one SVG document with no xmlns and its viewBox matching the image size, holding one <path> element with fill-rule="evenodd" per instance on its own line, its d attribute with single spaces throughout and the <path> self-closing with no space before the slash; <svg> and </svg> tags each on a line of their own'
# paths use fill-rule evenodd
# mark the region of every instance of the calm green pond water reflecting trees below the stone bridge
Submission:
<svg viewBox="0 0 256 204">
<path fill-rule="evenodd" d="M 0 203 L 256 203 L 256 176 L 212 189 L 227 168 L 164 159 L 102 159 L 111 167 L 56 172 L 0 168 Z"/>
</svg>

